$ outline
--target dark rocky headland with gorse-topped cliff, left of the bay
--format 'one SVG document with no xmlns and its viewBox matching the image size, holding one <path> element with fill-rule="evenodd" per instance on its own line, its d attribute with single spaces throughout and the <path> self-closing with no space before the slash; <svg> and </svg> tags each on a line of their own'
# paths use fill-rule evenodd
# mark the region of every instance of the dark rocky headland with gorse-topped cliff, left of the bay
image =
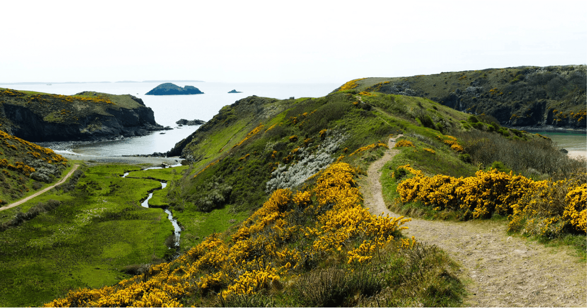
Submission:
<svg viewBox="0 0 587 308">
<path fill-rule="evenodd" d="M 89 141 L 163 130 L 153 110 L 131 95 L 63 96 L 0 89 L 2 130 L 29 141 Z"/>
</svg>

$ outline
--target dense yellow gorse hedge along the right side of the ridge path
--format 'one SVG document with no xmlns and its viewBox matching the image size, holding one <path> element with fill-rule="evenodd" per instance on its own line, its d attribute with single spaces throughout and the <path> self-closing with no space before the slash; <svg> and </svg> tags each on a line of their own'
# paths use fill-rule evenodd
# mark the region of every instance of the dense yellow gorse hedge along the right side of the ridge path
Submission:
<svg viewBox="0 0 587 308">
<path fill-rule="evenodd" d="M 414 174 L 397 185 L 402 202 L 422 202 L 435 211 L 460 211 L 464 218 L 508 215 L 509 231 L 555 237 L 562 232 L 586 232 L 587 185 L 585 175 L 571 180 L 534 181 L 492 169 L 474 177 L 427 177 L 409 165 Z"/>
</svg>

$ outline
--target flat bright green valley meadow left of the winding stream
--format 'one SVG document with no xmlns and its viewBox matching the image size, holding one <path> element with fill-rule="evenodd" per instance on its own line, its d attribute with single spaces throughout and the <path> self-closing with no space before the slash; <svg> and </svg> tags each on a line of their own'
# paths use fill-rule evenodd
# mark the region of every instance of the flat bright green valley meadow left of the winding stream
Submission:
<svg viewBox="0 0 587 308">
<path fill-rule="evenodd" d="M 123 270 L 127 266 L 161 262 L 173 226 L 161 209 L 138 204 L 160 184 L 120 177 L 139 168 L 85 168 L 86 177 L 75 190 L 53 189 L 2 211 L 12 217 L 48 199 L 62 202 L 51 212 L 0 232 L 0 304 L 39 306 L 70 289 L 112 285 L 128 277 Z M 163 176 L 173 174 L 165 172 Z"/>
</svg>

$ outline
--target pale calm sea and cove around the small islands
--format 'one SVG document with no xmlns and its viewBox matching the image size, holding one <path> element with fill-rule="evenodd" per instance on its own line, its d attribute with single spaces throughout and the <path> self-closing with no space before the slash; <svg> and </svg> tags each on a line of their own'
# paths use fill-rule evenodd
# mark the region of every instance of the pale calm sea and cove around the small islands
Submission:
<svg viewBox="0 0 587 308">
<path fill-rule="evenodd" d="M 16 90 L 38 91 L 45 93 L 72 95 L 83 91 L 95 91 L 110 94 L 132 94 L 143 99 L 151 107 L 155 120 L 163 126 L 177 127 L 180 119 L 208 121 L 223 106 L 234 103 L 251 95 L 287 99 L 291 96 L 322 97 L 340 86 L 339 83 L 223 83 L 223 82 L 187 82 L 175 83 L 178 86 L 194 86 L 205 94 L 197 95 L 145 95 L 160 83 L 72 83 L 72 84 L 25 84 L 9 87 Z M 228 93 L 231 90 L 242 93 Z M 149 136 L 124 138 L 87 145 L 78 145 L 70 149 L 73 153 L 85 155 L 116 156 L 132 154 L 151 154 L 166 152 L 183 138 L 197 129 L 196 126 L 184 126 L 174 130 L 154 132 Z M 160 134 L 164 133 L 164 134 Z"/>
</svg>

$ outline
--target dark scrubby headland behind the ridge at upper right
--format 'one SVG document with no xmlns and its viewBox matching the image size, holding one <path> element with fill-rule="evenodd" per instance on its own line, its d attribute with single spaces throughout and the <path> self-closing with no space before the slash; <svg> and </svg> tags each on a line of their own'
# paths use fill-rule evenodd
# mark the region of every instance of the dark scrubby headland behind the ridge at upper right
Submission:
<svg viewBox="0 0 587 308">
<path fill-rule="evenodd" d="M 585 130 L 585 65 L 520 66 L 393 78 L 351 80 L 335 91 L 426 97 L 509 127 Z"/>
</svg>

